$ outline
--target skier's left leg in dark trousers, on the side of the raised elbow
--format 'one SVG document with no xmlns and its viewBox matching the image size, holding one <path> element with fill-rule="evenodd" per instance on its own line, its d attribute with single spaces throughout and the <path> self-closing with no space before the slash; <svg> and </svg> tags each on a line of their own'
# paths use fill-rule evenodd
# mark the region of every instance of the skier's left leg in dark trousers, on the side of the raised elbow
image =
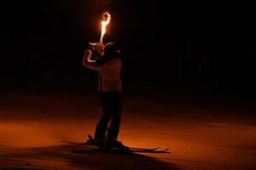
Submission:
<svg viewBox="0 0 256 170">
<path fill-rule="evenodd" d="M 95 139 L 105 139 L 106 131 L 108 129 L 108 122 L 112 118 L 112 109 L 111 109 L 111 98 L 108 92 L 100 93 L 101 103 L 102 103 L 102 111 L 103 115 L 100 122 L 96 125 Z"/>
</svg>

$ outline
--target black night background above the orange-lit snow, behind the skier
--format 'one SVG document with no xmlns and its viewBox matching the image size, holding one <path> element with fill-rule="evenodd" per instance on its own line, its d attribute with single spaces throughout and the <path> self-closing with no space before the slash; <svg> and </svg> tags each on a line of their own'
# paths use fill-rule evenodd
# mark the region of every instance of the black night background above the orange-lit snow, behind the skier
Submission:
<svg viewBox="0 0 256 170">
<path fill-rule="evenodd" d="M 105 9 L 113 16 L 105 42 L 116 42 L 122 51 L 125 89 L 140 84 L 140 88 L 163 91 L 255 97 L 255 13 L 239 4 L 2 3 L 1 87 L 80 90 L 95 86 L 96 73 L 81 61 L 87 43 L 99 40 Z"/>
</svg>

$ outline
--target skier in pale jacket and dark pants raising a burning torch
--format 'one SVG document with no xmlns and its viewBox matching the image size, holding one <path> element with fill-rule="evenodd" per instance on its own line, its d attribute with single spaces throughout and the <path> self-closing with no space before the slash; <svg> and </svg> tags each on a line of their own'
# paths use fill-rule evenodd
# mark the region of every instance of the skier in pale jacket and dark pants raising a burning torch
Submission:
<svg viewBox="0 0 256 170">
<path fill-rule="evenodd" d="M 113 42 L 104 45 L 102 37 L 100 42 L 89 43 L 83 58 L 85 67 L 99 72 L 99 94 L 103 114 L 96 125 L 93 143 L 98 146 L 123 148 L 124 145 L 118 140 L 122 115 L 122 61 L 116 45 Z M 97 54 L 98 57 L 91 59 L 92 54 Z"/>
</svg>

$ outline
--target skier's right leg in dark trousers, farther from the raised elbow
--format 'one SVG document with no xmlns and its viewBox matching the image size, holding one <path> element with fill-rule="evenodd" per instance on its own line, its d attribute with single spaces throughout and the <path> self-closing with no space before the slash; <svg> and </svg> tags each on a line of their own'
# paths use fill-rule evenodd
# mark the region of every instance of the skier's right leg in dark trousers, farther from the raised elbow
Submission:
<svg viewBox="0 0 256 170">
<path fill-rule="evenodd" d="M 113 102 L 113 119 L 108 127 L 108 139 L 117 139 L 122 116 L 122 94 L 113 92 L 111 100 Z"/>
</svg>

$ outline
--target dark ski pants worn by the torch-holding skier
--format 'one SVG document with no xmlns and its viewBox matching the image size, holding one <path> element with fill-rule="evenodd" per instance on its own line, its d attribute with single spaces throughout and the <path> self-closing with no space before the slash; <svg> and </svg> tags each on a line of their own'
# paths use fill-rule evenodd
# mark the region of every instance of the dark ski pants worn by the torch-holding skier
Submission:
<svg viewBox="0 0 256 170">
<path fill-rule="evenodd" d="M 100 92 L 103 115 L 96 125 L 95 138 L 118 138 L 122 114 L 121 92 Z M 110 122 L 110 124 L 109 124 Z M 109 126 L 108 126 L 109 124 Z"/>
</svg>

